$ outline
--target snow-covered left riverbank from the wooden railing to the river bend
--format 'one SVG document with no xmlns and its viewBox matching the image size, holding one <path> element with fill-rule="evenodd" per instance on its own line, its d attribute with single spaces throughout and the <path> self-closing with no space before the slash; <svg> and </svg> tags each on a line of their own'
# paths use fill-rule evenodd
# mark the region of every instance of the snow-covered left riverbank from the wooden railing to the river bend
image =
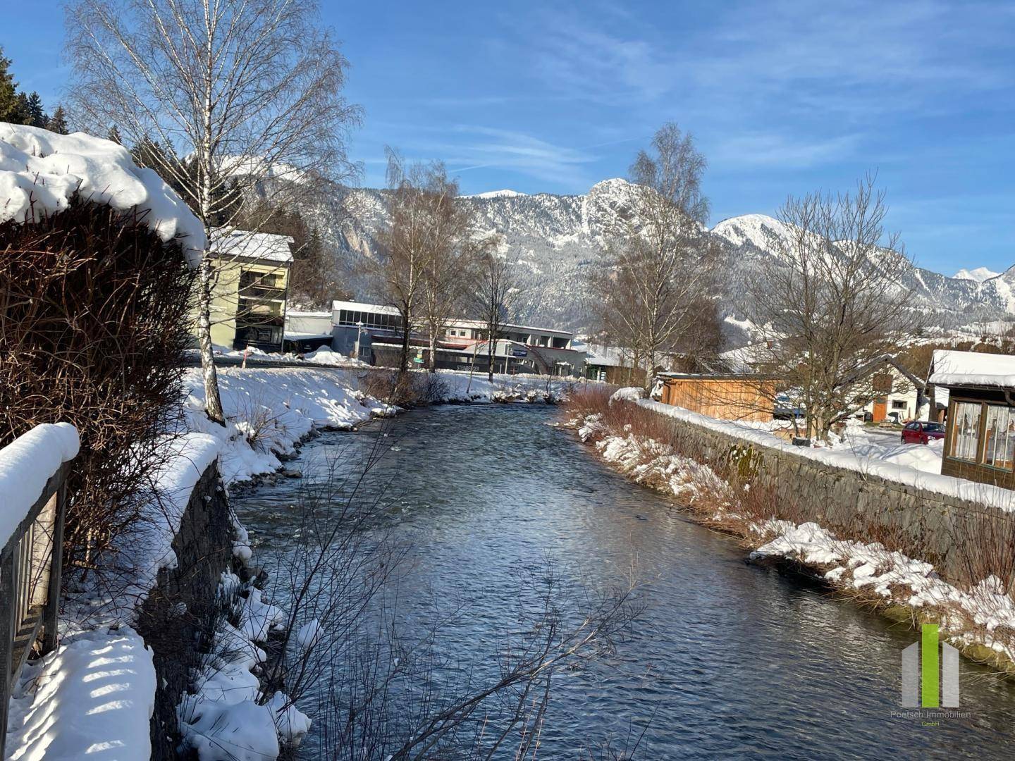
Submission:
<svg viewBox="0 0 1015 761">
<path fill-rule="evenodd" d="M 68 759 L 92 759 L 104 749 L 113 751 L 111 758 L 125 757 L 117 756 L 120 751 L 116 749 L 123 748 L 131 749 L 132 758 L 148 757 L 155 671 L 153 653 L 133 625 L 136 610 L 156 583 L 159 570 L 178 564 L 172 544 L 191 492 L 216 458 L 226 486 L 246 483 L 281 469 L 285 459 L 297 454 L 299 442 L 316 430 L 354 429 L 371 417 L 396 414 L 398 408 L 363 391 L 365 372 L 360 366 L 310 363 L 306 367 L 220 368 L 223 427 L 205 416 L 200 371 L 188 371 L 181 426 L 166 436 L 165 461 L 156 474 L 159 499 L 118 540 L 108 567 L 98 568 L 70 596 L 60 648 L 25 669 L 9 713 L 8 759 L 49 757 L 48 749 Z M 447 403 L 542 402 L 566 394 L 572 383 L 516 375 L 495 375 L 490 383 L 485 376 L 459 372 L 439 372 L 437 377 L 439 394 L 434 401 Z M 234 553 L 249 559 L 246 532 L 239 524 L 235 530 Z M 104 583 L 104 574 L 116 583 Z M 223 581 L 229 587 L 223 590 L 234 594 L 239 579 L 227 575 Z M 257 679 L 251 669 L 258 659 L 251 654 L 261 652 L 259 642 L 263 643 L 271 620 L 278 615 L 272 613 L 277 609 L 261 604 L 257 596 L 247 600 L 259 606 L 255 610 L 256 606 L 246 604 L 248 620 L 264 625 L 249 631 L 222 627 L 216 635 L 221 642 L 214 650 L 225 677 L 211 666 L 202 670 L 195 694 L 187 699 L 187 742 L 202 759 L 232 757 L 227 754 L 245 746 L 259 749 L 264 754 L 259 758 L 270 758 L 272 749 L 277 753 L 276 734 L 290 740 L 309 728 L 293 706 L 278 712 L 271 709 L 271 703 L 256 705 Z M 105 663 L 105 653 L 129 668 L 118 671 L 116 679 L 103 677 L 98 683 L 95 664 Z M 222 653 L 230 654 L 224 658 Z M 232 680 L 236 689 L 218 689 L 223 679 Z M 118 695 L 114 702 L 93 695 L 94 685 L 107 682 Z M 54 705 L 60 706 L 57 714 L 48 707 Z M 103 720 L 87 718 L 90 711 L 101 713 Z M 62 727 L 59 745 L 52 745 L 56 741 L 48 730 L 54 715 Z M 205 742 L 209 725 L 218 740 Z M 233 730 L 239 733 L 238 745 L 223 745 L 221 732 Z"/>
</svg>

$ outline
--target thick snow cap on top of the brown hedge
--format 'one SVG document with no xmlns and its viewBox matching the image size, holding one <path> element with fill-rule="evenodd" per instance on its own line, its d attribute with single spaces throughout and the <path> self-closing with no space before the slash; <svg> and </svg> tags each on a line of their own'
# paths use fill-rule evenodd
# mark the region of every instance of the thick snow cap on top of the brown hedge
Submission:
<svg viewBox="0 0 1015 761">
<path fill-rule="evenodd" d="M 183 236 L 190 264 L 200 261 L 205 248 L 200 220 L 158 175 L 135 164 L 122 145 L 83 132 L 58 135 L 0 122 L 0 222 L 63 211 L 75 192 L 119 211 L 147 211 L 144 224 L 162 240 Z"/>
</svg>

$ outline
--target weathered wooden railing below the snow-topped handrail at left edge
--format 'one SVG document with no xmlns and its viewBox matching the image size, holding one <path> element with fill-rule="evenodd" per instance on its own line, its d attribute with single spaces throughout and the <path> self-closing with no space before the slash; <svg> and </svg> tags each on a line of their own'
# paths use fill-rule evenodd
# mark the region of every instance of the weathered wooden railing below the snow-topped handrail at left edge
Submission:
<svg viewBox="0 0 1015 761">
<path fill-rule="evenodd" d="M 18 672 L 32 650 L 45 654 L 57 646 L 69 472 L 68 462 L 50 477 L 0 550 L 0 759 L 10 690 Z"/>
</svg>

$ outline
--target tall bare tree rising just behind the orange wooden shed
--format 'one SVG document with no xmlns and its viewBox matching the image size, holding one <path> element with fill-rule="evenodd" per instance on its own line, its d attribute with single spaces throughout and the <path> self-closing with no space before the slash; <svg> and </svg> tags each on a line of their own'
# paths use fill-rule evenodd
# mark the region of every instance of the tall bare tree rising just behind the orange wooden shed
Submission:
<svg viewBox="0 0 1015 761">
<path fill-rule="evenodd" d="M 631 165 L 629 208 L 611 225 L 604 266 L 593 275 L 602 327 L 646 368 L 647 386 L 662 356 L 717 348 L 718 331 L 708 324 L 716 315 L 708 265 L 717 250 L 703 227 L 704 168 L 691 136 L 664 125 L 651 151 L 639 152 Z M 704 337 L 710 346 L 702 345 Z"/>
</svg>

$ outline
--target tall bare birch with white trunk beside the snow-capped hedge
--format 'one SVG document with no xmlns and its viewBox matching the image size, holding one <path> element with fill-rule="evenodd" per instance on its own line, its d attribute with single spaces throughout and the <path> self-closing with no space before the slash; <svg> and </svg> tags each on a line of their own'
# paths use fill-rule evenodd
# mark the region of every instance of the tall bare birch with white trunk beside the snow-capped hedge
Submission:
<svg viewBox="0 0 1015 761">
<path fill-rule="evenodd" d="M 308 193 L 351 171 L 343 136 L 359 112 L 342 97 L 347 63 L 316 3 L 82 0 L 67 26 L 74 118 L 95 134 L 115 125 L 134 145 L 157 141 L 152 168 L 209 239 L 238 197 Z M 221 422 L 212 259 L 199 268 L 197 323 L 208 417 Z"/>
</svg>

